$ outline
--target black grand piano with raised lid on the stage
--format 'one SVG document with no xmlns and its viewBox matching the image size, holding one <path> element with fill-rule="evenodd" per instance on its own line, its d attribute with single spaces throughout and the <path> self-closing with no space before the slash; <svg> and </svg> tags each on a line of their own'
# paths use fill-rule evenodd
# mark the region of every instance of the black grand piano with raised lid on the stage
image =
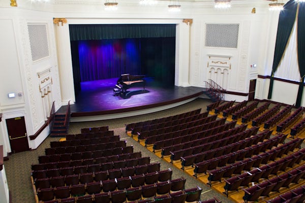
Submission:
<svg viewBox="0 0 305 203">
<path fill-rule="evenodd" d="M 118 93 L 123 93 L 124 95 L 127 95 L 127 89 L 134 87 L 134 86 L 143 86 L 143 90 L 145 90 L 145 80 L 144 75 L 130 75 L 130 74 L 123 74 L 119 77 L 119 79 L 116 81 L 116 89 Z"/>
</svg>

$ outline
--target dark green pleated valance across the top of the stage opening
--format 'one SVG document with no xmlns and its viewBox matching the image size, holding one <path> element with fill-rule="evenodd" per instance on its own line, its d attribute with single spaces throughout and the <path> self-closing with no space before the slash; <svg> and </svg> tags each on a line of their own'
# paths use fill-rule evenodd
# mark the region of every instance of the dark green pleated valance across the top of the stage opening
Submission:
<svg viewBox="0 0 305 203">
<path fill-rule="evenodd" d="M 69 25 L 70 40 L 175 37 L 175 24 L 75 24 Z"/>
</svg>

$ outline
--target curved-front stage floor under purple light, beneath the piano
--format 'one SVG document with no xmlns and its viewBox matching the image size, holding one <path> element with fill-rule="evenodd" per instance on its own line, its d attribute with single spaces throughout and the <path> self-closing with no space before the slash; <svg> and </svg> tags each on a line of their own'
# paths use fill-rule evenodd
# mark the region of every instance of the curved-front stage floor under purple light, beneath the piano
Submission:
<svg viewBox="0 0 305 203">
<path fill-rule="evenodd" d="M 145 78 L 143 86 L 128 89 L 128 96 L 113 94 L 118 78 L 81 83 L 81 91 L 71 105 L 71 122 L 105 120 L 153 113 L 186 104 L 200 96 L 204 88 L 165 86 Z M 57 112 L 65 112 L 63 106 Z"/>
</svg>

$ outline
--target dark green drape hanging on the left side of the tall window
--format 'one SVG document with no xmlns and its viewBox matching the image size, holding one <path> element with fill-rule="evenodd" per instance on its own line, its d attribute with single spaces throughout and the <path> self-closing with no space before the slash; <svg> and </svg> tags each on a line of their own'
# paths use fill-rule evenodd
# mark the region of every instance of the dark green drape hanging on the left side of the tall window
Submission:
<svg viewBox="0 0 305 203">
<path fill-rule="evenodd" d="M 271 71 L 271 77 L 270 77 L 268 99 L 270 99 L 272 96 L 273 75 L 278 69 L 278 66 L 281 62 L 287 42 L 291 35 L 291 30 L 293 28 L 295 17 L 296 17 L 296 10 L 297 10 L 297 4 L 295 3 L 294 0 L 290 0 L 287 4 L 284 5 L 284 10 L 282 10 L 280 13 L 275 54 L 273 57 L 272 71 Z"/>
</svg>

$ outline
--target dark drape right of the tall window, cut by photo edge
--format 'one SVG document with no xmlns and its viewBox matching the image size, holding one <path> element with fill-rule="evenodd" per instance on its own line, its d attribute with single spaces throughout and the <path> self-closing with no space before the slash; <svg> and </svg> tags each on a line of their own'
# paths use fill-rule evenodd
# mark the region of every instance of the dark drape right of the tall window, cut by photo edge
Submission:
<svg viewBox="0 0 305 203">
<path fill-rule="evenodd" d="M 305 3 L 299 3 L 297 19 L 297 56 L 300 72 L 300 83 L 296 98 L 296 107 L 301 106 L 305 76 Z"/>
</svg>

